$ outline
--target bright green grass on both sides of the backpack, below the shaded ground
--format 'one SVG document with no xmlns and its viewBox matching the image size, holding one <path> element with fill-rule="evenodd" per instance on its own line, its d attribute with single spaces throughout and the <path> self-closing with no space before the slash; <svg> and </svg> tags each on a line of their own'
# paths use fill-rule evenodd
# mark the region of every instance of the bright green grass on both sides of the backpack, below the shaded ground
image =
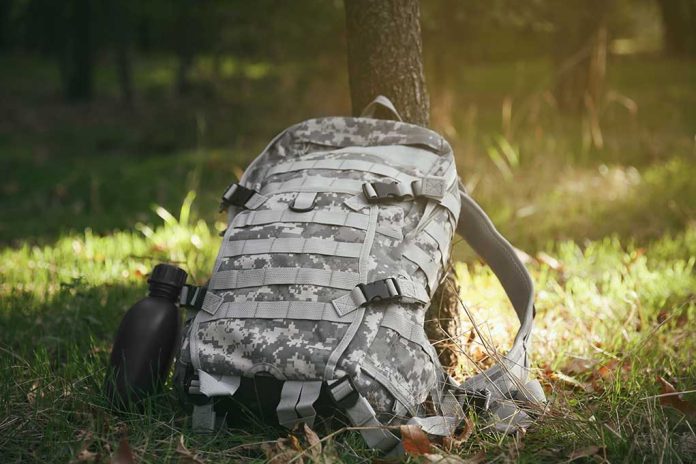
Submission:
<svg viewBox="0 0 696 464">
<path fill-rule="evenodd" d="M 157 227 L 108 236 L 87 230 L 0 252 L 3 462 L 65 462 L 84 450 L 103 459 L 123 436 L 137 457 L 170 460 L 182 434 L 204 459 L 263 461 L 259 443 L 277 439 L 278 431 L 196 436 L 171 392 L 152 399 L 142 415 L 115 415 L 99 394 L 111 337 L 144 293 L 152 265 L 176 262 L 199 282 L 209 274 L 220 239 L 217 227 L 196 218 L 193 201 L 189 194 L 176 215 L 155 207 L 163 220 Z M 679 391 L 696 385 L 694 256 L 696 229 L 688 227 L 641 245 L 617 237 L 583 246 L 560 242 L 527 258 L 537 285 L 534 375 L 549 406 L 523 441 L 480 429 L 454 452 L 522 462 L 588 450 L 610 460 L 689 460 L 693 418 L 663 404 L 656 376 Z M 517 324 L 495 277 L 476 262 L 456 270 L 482 333 L 504 352 Z M 471 324 L 465 318 L 460 324 L 460 346 L 480 365 L 490 363 L 490 353 L 469 337 Z M 472 372 L 462 362 L 459 375 Z M 354 432 L 325 449 L 352 462 L 372 456 Z"/>
</svg>

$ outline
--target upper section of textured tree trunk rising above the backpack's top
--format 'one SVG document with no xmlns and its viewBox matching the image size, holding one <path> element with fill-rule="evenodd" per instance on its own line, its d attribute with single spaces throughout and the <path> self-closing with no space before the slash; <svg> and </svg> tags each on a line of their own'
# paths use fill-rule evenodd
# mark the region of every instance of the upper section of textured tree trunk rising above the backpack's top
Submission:
<svg viewBox="0 0 696 464">
<path fill-rule="evenodd" d="M 344 6 L 353 114 L 384 95 L 404 121 L 427 126 L 418 0 L 344 0 Z"/>
</svg>

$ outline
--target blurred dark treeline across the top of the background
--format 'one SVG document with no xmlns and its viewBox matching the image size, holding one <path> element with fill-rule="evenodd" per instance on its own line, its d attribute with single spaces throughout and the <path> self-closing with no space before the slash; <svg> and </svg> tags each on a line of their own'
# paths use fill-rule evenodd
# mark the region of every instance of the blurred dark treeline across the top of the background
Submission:
<svg viewBox="0 0 696 464">
<path fill-rule="evenodd" d="M 550 56 L 559 107 L 591 112 L 602 92 L 607 46 L 617 25 L 620 29 L 631 8 L 648 2 L 659 6 L 665 49 L 693 56 L 694 0 L 422 2 L 425 57 L 433 85 L 446 84 L 452 69 L 466 62 Z M 90 99 L 99 92 L 93 68 L 102 66 L 108 54 L 115 61 L 125 102 L 134 98 L 134 55 L 175 56 L 172 90 L 180 95 L 201 84 L 193 82 L 192 73 L 203 57 L 212 57 L 213 77 L 224 73 L 225 57 L 234 56 L 295 63 L 296 70 L 305 66 L 306 80 L 320 62 L 331 63 L 337 72 L 345 69 L 341 6 L 321 0 L 4 0 L 0 50 L 36 52 L 56 60 L 69 100 Z M 356 13 L 364 9 L 359 1 L 348 2 L 348 7 Z"/>
</svg>

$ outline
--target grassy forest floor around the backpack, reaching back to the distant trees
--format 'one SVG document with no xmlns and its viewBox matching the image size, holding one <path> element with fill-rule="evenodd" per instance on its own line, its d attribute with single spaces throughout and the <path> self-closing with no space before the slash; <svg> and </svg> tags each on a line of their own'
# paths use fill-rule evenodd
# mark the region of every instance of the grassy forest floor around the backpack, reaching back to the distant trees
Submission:
<svg viewBox="0 0 696 464">
<path fill-rule="evenodd" d="M 222 189 L 274 131 L 326 109 L 271 117 L 262 103 L 245 121 L 246 100 L 66 107 L 37 93 L 52 71 L 11 60 L 0 76 L 0 461 L 370 462 L 354 431 L 313 447 L 311 434 L 260 425 L 200 436 L 171 392 L 146 414 L 114 414 L 99 394 L 151 267 L 177 262 L 204 282 Z M 648 57 L 609 69 L 596 121 L 558 114 L 545 63 L 472 66 L 433 92 L 433 125 L 469 190 L 527 252 L 534 375 L 549 403 L 524 435 L 476 421 L 412 462 L 696 461 L 696 66 Z M 269 83 L 245 92 L 254 85 Z M 233 141 L 217 143 L 225 127 Z M 515 323 L 502 290 L 463 243 L 454 255 L 462 299 L 504 350 Z M 461 324 L 462 359 L 485 364 Z M 463 361 L 457 374 L 473 369 Z"/>
</svg>

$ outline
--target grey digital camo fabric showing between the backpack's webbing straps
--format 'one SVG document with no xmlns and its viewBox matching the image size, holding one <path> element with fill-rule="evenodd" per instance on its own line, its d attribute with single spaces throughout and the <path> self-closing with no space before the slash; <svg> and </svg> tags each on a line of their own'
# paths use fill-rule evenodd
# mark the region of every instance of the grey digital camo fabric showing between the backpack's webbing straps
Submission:
<svg viewBox="0 0 696 464">
<path fill-rule="evenodd" d="M 376 147 L 381 145 L 408 145 L 424 152 L 419 163 L 390 156 L 381 158 L 379 153 L 339 151 L 344 147 Z M 427 156 L 426 156 L 427 155 Z M 241 183 L 260 191 L 267 200 L 254 212 L 285 211 L 293 203 L 296 192 L 277 192 L 284 182 L 297 179 L 347 179 L 359 182 L 393 181 L 389 177 L 358 170 L 303 169 L 278 172 L 266 176 L 266 172 L 281 163 L 293 161 L 340 159 L 381 163 L 413 177 L 445 175 L 454 169 L 451 148 L 432 131 L 410 124 L 367 118 L 323 118 L 305 121 L 282 133 L 267 150 L 247 169 Z M 418 164 L 418 166 L 416 166 Z M 425 168 L 423 167 L 425 165 Z M 281 166 L 282 168 L 282 166 Z M 280 168 L 279 168 L 280 169 Z M 358 182 L 358 184 L 359 184 Z M 454 187 L 456 192 L 456 187 Z M 356 211 L 346 201 L 361 195 L 356 192 L 319 192 L 313 211 L 340 214 L 369 215 L 370 208 Z M 221 257 L 214 272 L 226 270 L 311 268 L 362 273 L 368 283 L 388 277 L 410 279 L 423 287 L 437 276 L 426 276 L 425 271 L 404 258 L 407 247 L 418 247 L 436 263 L 449 253 L 451 236 L 456 218 L 443 206 L 428 207 L 429 201 L 417 198 L 412 201 L 385 202 L 377 208 L 377 225 L 389 226 L 403 232 L 404 239 L 376 233 L 369 236 L 366 230 L 318 223 L 272 223 L 257 226 L 235 227 L 229 230 L 225 240 L 244 241 L 259 239 L 326 239 L 347 243 L 371 241 L 372 246 L 363 258 L 326 256 L 303 253 L 259 253 Z M 429 214 L 425 216 L 425 212 Z M 249 214 L 240 211 L 237 214 Z M 369 216 L 368 216 L 369 217 Z M 437 223 L 448 238 L 438 243 L 425 232 L 430 223 Z M 415 231 L 415 233 L 414 233 Z M 346 290 L 318 285 L 263 285 L 251 288 L 217 290 L 223 302 L 303 301 L 327 303 L 347 293 Z M 432 293 L 432 292 L 431 292 Z M 427 304 L 408 302 L 381 302 L 364 307 L 363 317 L 357 321 L 355 335 L 347 340 L 347 348 L 338 359 L 335 377 L 345 373 L 353 377 L 358 390 L 378 412 L 384 423 L 400 423 L 408 413 L 419 411 L 429 392 L 436 386 L 442 374 L 432 352 L 418 343 L 382 326 L 387 308 L 398 311 L 411 324 L 422 326 Z M 288 319 L 236 319 L 224 318 L 199 322 L 191 332 L 197 347 L 200 367 L 211 374 L 252 376 L 267 372 L 279 379 L 328 380 L 324 378 L 327 361 L 348 331 L 349 324 L 329 321 Z M 422 334 L 422 340 L 425 335 Z M 412 337 L 413 338 L 413 337 Z M 418 338 L 418 337 L 416 337 Z M 188 340 L 186 341 L 188 343 Z M 185 345 L 188 347 L 189 345 Z M 184 359 L 185 356 L 182 356 Z M 372 366 L 379 375 L 373 377 L 362 367 Z M 378 378 L 379 380 L 377 380 Z M 395 400 L 394 392 L 403 404 Z M 396 417 L 396 413 L 399 417 Z"/>
</svg>

